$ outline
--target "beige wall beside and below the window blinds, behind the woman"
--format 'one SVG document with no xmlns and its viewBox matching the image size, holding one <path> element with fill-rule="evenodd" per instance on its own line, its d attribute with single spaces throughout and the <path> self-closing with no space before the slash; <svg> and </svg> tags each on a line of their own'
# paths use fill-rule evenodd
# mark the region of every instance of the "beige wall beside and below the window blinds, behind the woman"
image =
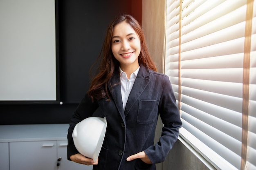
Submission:
<svg viewBox="0 0 256 170">
<path fill-rule="evenodd" d="M 148 48 L 157 64 L 158 72 L 162 73 L 162 58 L 164 47 L 164 2 L 165 0 L 142 0 L 142 28 L 145 33 Z M 157 122 L 155 141 L 162 132 L 162 121 Z M 179 140 L 163 163 L 157 164 L 157 170 L 208 170 Z"/>
</svg>

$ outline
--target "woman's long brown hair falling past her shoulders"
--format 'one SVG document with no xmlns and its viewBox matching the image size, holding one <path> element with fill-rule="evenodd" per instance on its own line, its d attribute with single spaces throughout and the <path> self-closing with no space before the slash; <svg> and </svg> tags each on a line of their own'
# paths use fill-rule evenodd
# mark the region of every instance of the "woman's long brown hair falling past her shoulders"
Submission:
<svg viewBox="0 0 256 170">
<path fill-rule="evenodd" d="M 109 24 L 108 29 L 106 31 L 105 40 L 103 42 L 101 53 L 97 59 L 97 61 L 100 62 L 99 67 L 97 68 L 98 73 L 92 79 L 90 89 L 88 91 L 88 95 L 91 97 L 92 101 L 93 99 L 102 99 L 105 97 L 110 99 L 108 93 L 108 84 L 110 84 L 111 77 L 115 73 L 119 73 L 119 62 L 115 59 L 112 53 L 111 42 L 114 27 L 120 22 L 127 22 L 128 24 L 130 24 L 130 26 L 135 30 L 135 32 L 139 36 L 141 44 L 141 51 L 138 57 L 139 65 L 142 64 L 150 70 L 157 71 L 157 67 L 155 66 L 155 63 L 150 57 L 144 33 L 141 29 L 139 22 L 137 22 L 137 20 L 135 20 L 135 18 L 133 18 L 131 15 L 120 15 Z M 90 74 L 91 73 L 92 68 L 90 70 Z"/>
</svg>

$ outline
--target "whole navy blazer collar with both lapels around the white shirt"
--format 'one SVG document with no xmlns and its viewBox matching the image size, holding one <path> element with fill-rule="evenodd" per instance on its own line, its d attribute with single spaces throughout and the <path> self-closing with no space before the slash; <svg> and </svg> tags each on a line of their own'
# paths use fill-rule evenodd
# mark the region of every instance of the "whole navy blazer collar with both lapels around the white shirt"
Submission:
<svg viewBox="0 0 256 170">
<path fill-rule="evenodd" d="M 135 104 L 135 102 L 137 101 L 141 93 L 143 93 L 146 86 L 150 82 L 150 79 L 148 78 L 149 75 L 150 73 L 148 68 L 141 65 L 139 68 L 139 73 L 137 74 L 132 90 L 128 97 L 125 110 L 123 109 L 123 102 L 122 102 L 122 96 L 121 96 L 120 74 L 117 73 L 113 75 L 112 78 L 110 79 L 110 84 L 112 84 L 112 87 L 110 86 L 110 84 L 108 84 L 108 88 L 117 106 L 117 109 L 119 110 L 119 113 L 121 114 L 123 119 L 129 113 L 130 108 Z M 114 84 L 117 84 L 117 85 L 113 86 Z"/>
</svg>

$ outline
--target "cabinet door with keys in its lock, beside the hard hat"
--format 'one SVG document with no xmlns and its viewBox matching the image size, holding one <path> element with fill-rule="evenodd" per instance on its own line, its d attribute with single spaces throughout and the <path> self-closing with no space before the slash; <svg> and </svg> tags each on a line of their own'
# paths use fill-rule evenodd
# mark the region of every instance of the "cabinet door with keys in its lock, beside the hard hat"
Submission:
<svg viewBox="0 0 256 170">
<path fill-rule="evenodd" d="M 58 158 L 61 157 L 61 161 L 59 161 L 60 165 L 58 170 L 92 170 L 92 166 L 82 165 L 67 160 L 67 140 L 59 140 L 57 141 L 57 145 Z"/>
</svg>

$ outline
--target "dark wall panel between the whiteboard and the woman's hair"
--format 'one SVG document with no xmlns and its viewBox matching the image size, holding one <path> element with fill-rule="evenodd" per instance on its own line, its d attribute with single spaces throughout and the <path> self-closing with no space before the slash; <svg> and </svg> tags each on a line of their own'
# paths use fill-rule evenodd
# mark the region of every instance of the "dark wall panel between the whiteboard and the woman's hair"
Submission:
<svg viewBox="0 0 256 170">
<path fill-rule="evenodd" d="M 89 69 L 96 60 L 108 23 L 130 13 L 130 0 L 60 2 L 61 98 L 77 103 L 89 88 Z"/>
</svg>

